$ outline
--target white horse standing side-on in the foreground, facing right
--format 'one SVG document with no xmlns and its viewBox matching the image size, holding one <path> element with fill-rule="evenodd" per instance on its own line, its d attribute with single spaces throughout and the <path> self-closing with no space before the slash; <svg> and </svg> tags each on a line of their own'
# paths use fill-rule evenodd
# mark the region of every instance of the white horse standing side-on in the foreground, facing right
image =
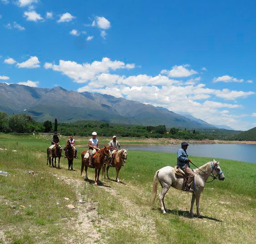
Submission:
<svg viewBox="0 0 256 244">
<path fill-rule="evenodd" d="M 214 177 L 222 181 L 225 179 L 225 176 L 219 166 L 219 162 L 215 160 L 212 162 L 208 162 L 197 169 L 194 169 L 194 172 L 195 172 L 194 184 L 191 185 L 191 188 L 194 189 L 194 192 L 191 199 L 190 214 L 193 216 L 193 206 L 196 199 L 197 215 L 198 217 L 202 217 L 199 212 L 199 200 L 200 200 L 200 194 L 204 189 L 205 182 L 207 181 L 210 174 L 214 175 Z M 183 190 L 183 178 L 177 177 L 175 175 L 174 168 L 171 166 L 166 166 L 157 170 L 154 176 L 154 181 L 153 181 L 153 191 L 152 191 L 152 198 L 151 198 L 152 205 L 156 200 L 157 183 L 158 183 L 157 180 L 160 182 L 162 186 L 162 191 L 159 194 L 159 202 L 160 202 L 161 210 L 163 214 L 166 214 L 164 201 L 163 201 L 164 196 L 168 191 L 168 189 L 170 188 L 170 186 L 178 190 Z"/>
</svg>

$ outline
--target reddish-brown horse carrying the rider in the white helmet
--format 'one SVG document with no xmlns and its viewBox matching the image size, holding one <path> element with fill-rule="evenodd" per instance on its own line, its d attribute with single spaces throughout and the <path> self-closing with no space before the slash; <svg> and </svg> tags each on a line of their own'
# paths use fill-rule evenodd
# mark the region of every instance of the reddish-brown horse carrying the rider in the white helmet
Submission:
<svg viewBox="0 0 256 244">
<path fill-rule="evenodd" d="M 83 172 L 83 168 L 85 167 L 85 171 L 86 171 L 86 175 L 84 176 L 84 180 L 88 180 L 88 176 L 87 176 L 87 169 L 88 167 L 90 168 L 95 168 L 95 185 L 98 184 L 99 181 L 99 173 L 101 170 L 101 167 L 103 165 L 103 163 L 108 160 L 110 158 L 110 147 L 105 147 L 100 149 L 98 152 L 96 152 L 96 155 L 93 159 L 93 166 L 89 166 L 89 159 L 85 159 L 84 155 L 86 155 L 86 153 L 88 152 L 88 150 L 85 150 L 81 153 L 81 158 L 82 158 L 82 164 L 81 164 L 81 175 Z"/>
</svg>

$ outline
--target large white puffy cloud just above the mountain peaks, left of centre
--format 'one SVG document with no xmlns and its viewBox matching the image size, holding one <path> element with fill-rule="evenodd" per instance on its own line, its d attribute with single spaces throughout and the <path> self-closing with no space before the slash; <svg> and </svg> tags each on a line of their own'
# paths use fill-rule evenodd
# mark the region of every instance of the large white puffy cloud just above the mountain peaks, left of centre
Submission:
<svg viewBox="0 0 256 244">
<path fill-rule="evenodd" d="M 74 61 L 60 60 L 59 65 L 45 63 L 45 68 L 51 68 L 55 71 L 60 71 L 67 75 L 74 82 L 85 83 L 101 73 L 109 72 L 109 70 L 131 68 L 131 64 L 125 64 L 121 61 L 111 61 L 109 58 L 102 58 L 101 61 L 78 64 Z"/>
</svg>

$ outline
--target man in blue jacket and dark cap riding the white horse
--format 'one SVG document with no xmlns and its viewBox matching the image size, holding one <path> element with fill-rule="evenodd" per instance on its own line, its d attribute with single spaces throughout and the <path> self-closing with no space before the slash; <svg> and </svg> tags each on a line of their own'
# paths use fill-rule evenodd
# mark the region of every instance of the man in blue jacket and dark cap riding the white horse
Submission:
<svg viewBox="0 0 256 244">
<path fill-rule="evenodd" d="M 189 165 L 189 162 L 191 162 L 191 160 L 188 158 L 186 152 L 187 146 L 187 142 L 184 141 L 181 143 L 181 149 L 179 149 L 179 151 L 177 152 L 177 166 L 182 168 L 185 175 L 187 175 L 187 185 L 185 187 L 185 191 L 193 192 L 194 190 L 191 189 L 191 184 L 194 180 L 195 173 L 193 172 Z"/>
</svg>

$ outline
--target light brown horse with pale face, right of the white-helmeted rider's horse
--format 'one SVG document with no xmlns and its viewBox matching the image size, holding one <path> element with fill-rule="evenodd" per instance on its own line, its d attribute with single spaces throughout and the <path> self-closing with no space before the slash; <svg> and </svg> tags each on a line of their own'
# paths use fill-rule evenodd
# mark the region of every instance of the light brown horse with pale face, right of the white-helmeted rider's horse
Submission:
<svg viewBox="0 0 256 244">
<path fill-rule="evenodd" d="M 125 163 L 126 160 L 127 160 L 127 150 L 125 150 L 125 149 L 118 150 L 116 152 L 115 158 L 113 159 L 113 162 L 112 162 L 112 167 L 116 168 L 116 181 L 118 183 L 120 182 L 119 178 L 118 178 L 119 171 L 122 167 L 123 162 Z M 111 160 L 106 161 L 106 164 L 108 165 L 108 166 L 106 166 L 106 176 L 108 177 L 109 180 L 110 180 L 110 178 L 109 178 L 109 168 L 111 167 L 110 162 L 111 162 Z M 105 164 L 103 165 L 102 173 L 103 172 L 104 172 L 104 179 L 106 179 Z"/>
</svg>

